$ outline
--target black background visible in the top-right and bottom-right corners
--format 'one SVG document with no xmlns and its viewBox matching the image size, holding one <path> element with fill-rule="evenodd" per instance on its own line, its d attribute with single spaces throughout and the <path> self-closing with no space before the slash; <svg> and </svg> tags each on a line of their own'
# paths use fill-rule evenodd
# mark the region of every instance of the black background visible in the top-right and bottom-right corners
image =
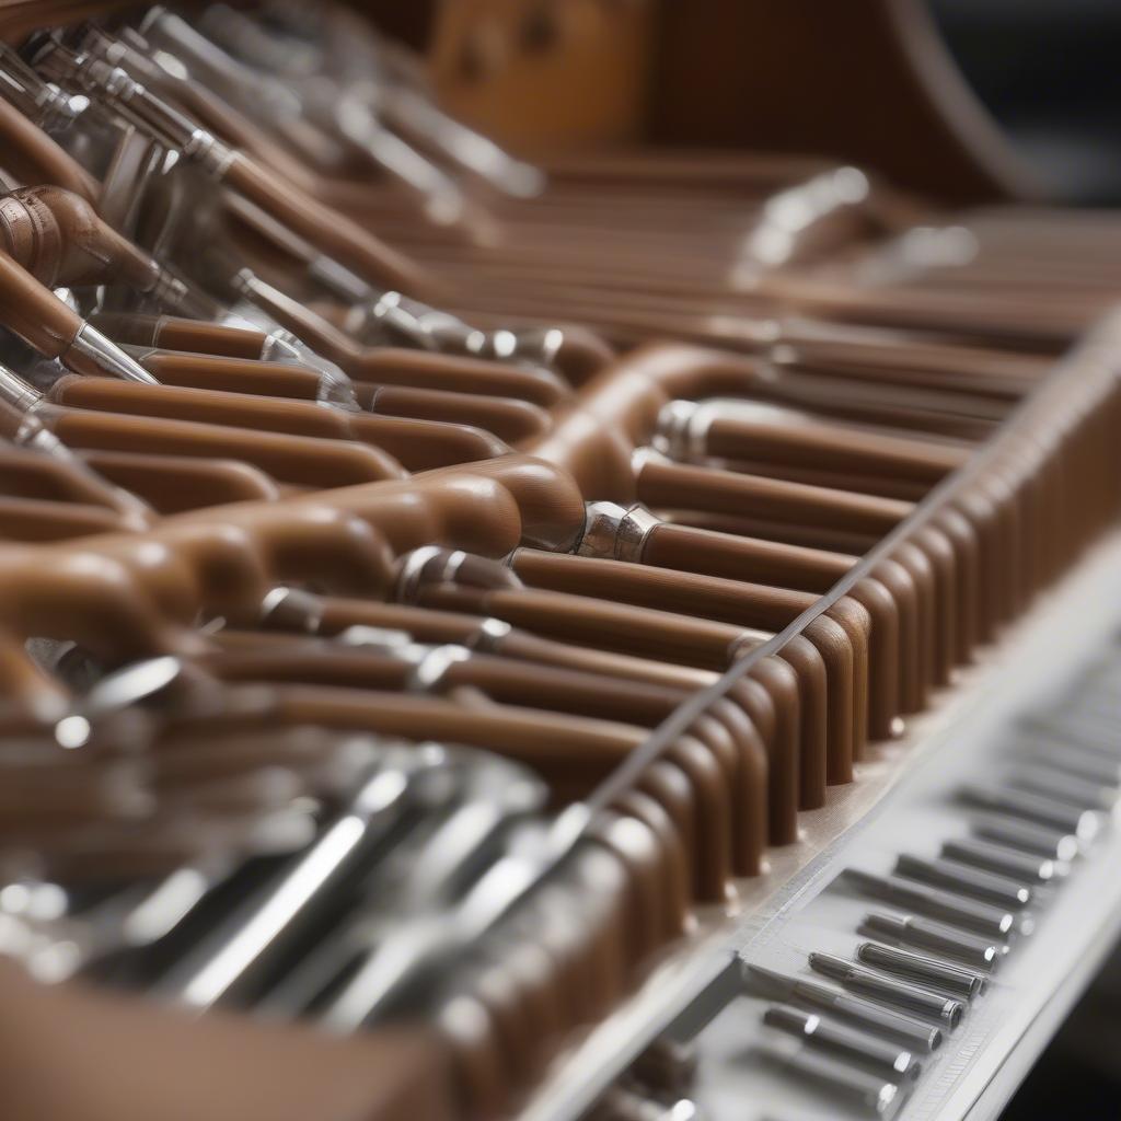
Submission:
<svg viewBox="0 0 1121 1121">
<path fill-rule="evenodd" d="M 1121 0 L 928 0 L 966 80 L 1049 192 L 1121 204 Z M 1121 1118 L 1121 953 L 1001 1121 Z"/>
</svg>

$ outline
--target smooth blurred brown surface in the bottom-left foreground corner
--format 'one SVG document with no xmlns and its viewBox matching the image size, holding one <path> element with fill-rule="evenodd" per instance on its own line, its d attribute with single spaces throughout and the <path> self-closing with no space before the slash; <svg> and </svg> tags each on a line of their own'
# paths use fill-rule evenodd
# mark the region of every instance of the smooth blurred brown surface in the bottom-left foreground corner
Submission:
<svg viewBox="0 0 1121 1121">
<path fill-rule="evenodd" d="M 11 1121 L 140 1121 L 157 1115 L 168 1094 L 184 1115 L 213 1121 L 457 1115 L 446 1045 L 427 1029 L 343 1040 L 222 1013 L 200 1022 L 148 1001 L 39 985 L 8 964 L 0 966 L 0 990 L 3 1034 L 11 1037 L 0 1059 Z M 91 1038 L 100 1040 L 98 1058 Z M 124 1060 L 136 1064 L 132 1074 L 110 1076 L 109 1067 Z M 35 1074 L 45 1064 L 59 1074 L 52 1090 Z M 211 1075 L 205 1087 L 200 1066 Z"/>
</svg>

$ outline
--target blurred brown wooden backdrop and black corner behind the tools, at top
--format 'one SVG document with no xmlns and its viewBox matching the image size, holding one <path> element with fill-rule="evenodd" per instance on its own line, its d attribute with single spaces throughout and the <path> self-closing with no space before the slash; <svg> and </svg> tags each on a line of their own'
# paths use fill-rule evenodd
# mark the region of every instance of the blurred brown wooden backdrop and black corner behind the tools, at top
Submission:
<svg viewBox="0 0 1121 1121">
<path fill-rule="evenodd" d="M 947 203 L 1121 202 L 1118 0 L 363 0 L 529 154 L 831 155 Z"/>
</svg>

